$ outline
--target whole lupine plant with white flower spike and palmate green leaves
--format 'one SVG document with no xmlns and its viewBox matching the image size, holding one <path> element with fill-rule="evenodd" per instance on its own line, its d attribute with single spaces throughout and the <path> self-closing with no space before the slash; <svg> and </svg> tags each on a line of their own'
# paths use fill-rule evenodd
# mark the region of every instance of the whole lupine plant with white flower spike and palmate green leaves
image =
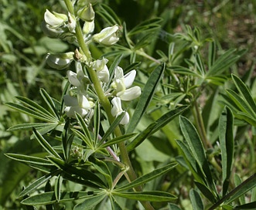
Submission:
<svg viewBox="0 0 256 210">
<path fill-rule="evenodd" d="M 254 137 L 256 126 L 251 91 L 229 71 L 245 50 L 217 55 L 217 42 L 188 26 L 172 36 L 168 52 L 157 50 L 155 59 L 149 51 L 162 19 L 128 31 L 108 5 L 64 2 L 67 11 L 47 9 L 42 26 L 46 36 L 73 46 L 71 52 L 46 56 L 51 68 L 66 71 L 61 100 L 42 88 L 43 105 L 26 97 L 5 103 L 38 120 L 9 130 L 32 130 L 32 141 L 43 148 L 35 155 L 5 154 L 41 174 L 20 192 L 22 205 L 253 209 L 255 173 L 245 180 L 233 173 L 235 137 L 244 127 Z M 216 112 L 210 112 L 214 106 Z M 155 144 L 169 145 L 172 154 L 154 170 L 138 173 L 132 154 L 148 151 L 144 145 L 159 133 L 165 140 L 159 137 Z M 193 182 L 186 186 L 189 207 L 174 190 L 176 179 L 173 186 L 163 184 L 176 173 Z"/>
</svg>

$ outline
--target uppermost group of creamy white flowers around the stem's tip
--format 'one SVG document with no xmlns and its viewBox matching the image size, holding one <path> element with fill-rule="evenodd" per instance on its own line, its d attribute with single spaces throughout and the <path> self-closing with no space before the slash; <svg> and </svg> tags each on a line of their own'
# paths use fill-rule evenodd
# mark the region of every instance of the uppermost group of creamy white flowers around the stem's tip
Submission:
<svg viewBox="0 0 256 210">
<path fill-rule="evenodd" d="M 76 25 L 79 20 L 84 21 L 83 36 L 84 42 L 98 42 L 104 46 L 111 46 L 118 42 L 118 25 L 102 29 L 101 32 L 92 35 L 94 32 L 94 8 L 89 4 L 80 4 L 77 10 L 77 16 L 70 12 L 65 15 L 57 12 L 49 12 L 46 9 L 44 14 L 43 32 L 47 36 L 60 38 L 68 42 L 77 42 L 75 36 Z"/>
</svg>

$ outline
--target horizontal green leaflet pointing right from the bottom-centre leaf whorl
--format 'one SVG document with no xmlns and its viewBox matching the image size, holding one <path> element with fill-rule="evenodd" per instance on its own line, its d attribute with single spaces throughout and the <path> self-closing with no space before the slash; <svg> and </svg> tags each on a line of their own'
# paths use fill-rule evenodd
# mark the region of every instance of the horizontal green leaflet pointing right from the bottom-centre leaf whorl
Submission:
<svg viewBox="0 0 256 210">
<path fill-rule="evenodd" d="M 175 195 L 165 191 L 141 191 L 141 192 L 117 192 L 113 191 L 113 195 L 122 198 L 133 199 L 141 202 L 172 202 L 176 200 Z"/>
</svg>

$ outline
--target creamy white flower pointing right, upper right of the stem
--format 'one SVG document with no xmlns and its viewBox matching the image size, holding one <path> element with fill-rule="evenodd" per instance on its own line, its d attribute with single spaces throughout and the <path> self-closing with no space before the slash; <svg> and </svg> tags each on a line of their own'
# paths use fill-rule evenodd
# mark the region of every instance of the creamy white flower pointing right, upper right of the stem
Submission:
<svg viewBox="0 0 256 210">
<path fill-rule="evenodd" d="M 118 25 L 107 27 L 101 30 L 100 33 L 95 34 L 93 39 L 95 42 L 99 42 L 105 46 L 111 46 L 119 40 L 116 32 L 118 32 Z"/>
</svg>

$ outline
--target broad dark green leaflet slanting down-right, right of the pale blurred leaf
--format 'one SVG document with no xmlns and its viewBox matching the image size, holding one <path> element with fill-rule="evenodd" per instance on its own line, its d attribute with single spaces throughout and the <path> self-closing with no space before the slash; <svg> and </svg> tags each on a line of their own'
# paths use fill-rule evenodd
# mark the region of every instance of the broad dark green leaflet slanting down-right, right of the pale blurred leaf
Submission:
<svg viewBox="0 0 256 210">
<path fill-rule="evenodd" d="M 207 162 L 207 156 L 203 149 L 203 144 L 200 139 L 199 134 L 196 131 L 196 128 L 193 124 L 190 123 L 186 117 L 179 117 L 179 125 L 182 130 L 183 136 L 185 137 L 186 142 L 189 145 L 189 151 L 193 155 L 193 158 L 196 159 L 197 164 L 202 168 L 205 178 L 207 179 L 210 188 L 215 190 L 213 184 L 213 178 L 210 173 L 210 167 Z"/>
</svg>

